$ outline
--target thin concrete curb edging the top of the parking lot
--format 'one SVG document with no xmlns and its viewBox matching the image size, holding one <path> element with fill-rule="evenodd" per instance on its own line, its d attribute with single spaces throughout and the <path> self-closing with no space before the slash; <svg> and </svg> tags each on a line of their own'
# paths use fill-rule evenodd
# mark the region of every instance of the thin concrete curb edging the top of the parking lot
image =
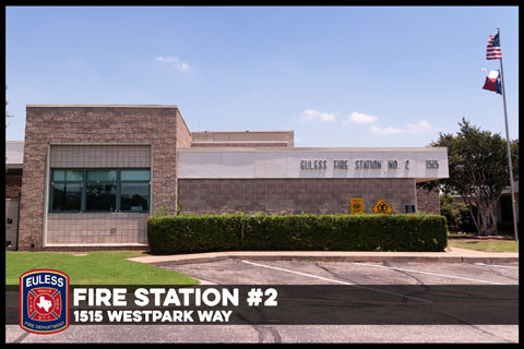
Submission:
<svg viewBox="0 0 524 349">
<path fill-rule="evenodd" d="M 191 264 L 191 263 L 210 263 L 226 260 L 250 260 L 250 261 L 306 261 L 306 262 L 394 262 L 394 263 L 519 263 L 519 256 L 479 256 L 479 255 L 356 255 L 356 254 L 252 254 L 214 252 L 199 253 L 196 255 L 169 255 L 169 256 L 146 256 L 129 258 L 130 261 L 147 263 L 157 266 Z"/>
</svg>

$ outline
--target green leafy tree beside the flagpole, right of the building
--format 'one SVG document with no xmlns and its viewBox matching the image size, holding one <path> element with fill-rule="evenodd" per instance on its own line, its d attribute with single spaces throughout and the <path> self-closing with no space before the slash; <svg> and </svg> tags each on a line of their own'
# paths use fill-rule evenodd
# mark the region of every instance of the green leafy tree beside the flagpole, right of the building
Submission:
<svg viewBox="0 0 524 349">
<path fill-rule="evenodd" d="M 497 232 L 497 201 L 510 185 L 505 141 L 500 134 L 481 131 L 465 119 L 458 127 L 456 135 L 440 133 L 439 140 L 429 144 L 448 148 L 450 177 L 421 186 L 461 195 L 477 233 L 492 234 Z M 516 151 L 512 160 L 517 169 L 519 141 L 513 143 Z"/>
</svg>

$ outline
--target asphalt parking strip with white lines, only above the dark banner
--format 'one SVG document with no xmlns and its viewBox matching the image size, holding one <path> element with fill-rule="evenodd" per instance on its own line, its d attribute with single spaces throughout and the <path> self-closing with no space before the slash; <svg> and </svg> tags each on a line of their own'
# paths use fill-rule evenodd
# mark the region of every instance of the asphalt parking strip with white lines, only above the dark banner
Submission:
<svg viewBox="0 0 524 349">
<path fill-rule="evenodd" d="M 519 265 L 483 263 L 253 262 L 164 266 L 217 285 L 517 285 Z"/>
</svg>

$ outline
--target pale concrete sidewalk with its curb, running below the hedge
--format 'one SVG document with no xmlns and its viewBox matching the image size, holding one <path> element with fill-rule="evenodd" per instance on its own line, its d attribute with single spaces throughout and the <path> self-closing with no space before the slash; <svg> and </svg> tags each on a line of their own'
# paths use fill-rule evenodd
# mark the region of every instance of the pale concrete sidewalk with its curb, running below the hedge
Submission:
<svg viewBox="0 0 524 349">
<path fill-rule="evenodd" d="M 345 251 L 230 251 L 129 258 L 153 265 L 205 263 L 224 260 L 322 261 L 322 262 L 417 262 L 417 263 L 519 263 L 519 253 L 480 252 L 448 248 L 446 252 L 345 252 Z"/>
</svg>

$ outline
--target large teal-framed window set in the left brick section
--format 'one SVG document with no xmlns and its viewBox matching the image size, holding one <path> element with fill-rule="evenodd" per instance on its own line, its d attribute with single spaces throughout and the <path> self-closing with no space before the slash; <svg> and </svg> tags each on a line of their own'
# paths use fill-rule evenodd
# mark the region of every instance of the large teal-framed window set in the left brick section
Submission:
<svg viewBox="0 0 524 349">
<path fill-rule="evenodd" d="M 53 169 L 51 213 L 150 212 L 148 169 Z"/>
</svg>

